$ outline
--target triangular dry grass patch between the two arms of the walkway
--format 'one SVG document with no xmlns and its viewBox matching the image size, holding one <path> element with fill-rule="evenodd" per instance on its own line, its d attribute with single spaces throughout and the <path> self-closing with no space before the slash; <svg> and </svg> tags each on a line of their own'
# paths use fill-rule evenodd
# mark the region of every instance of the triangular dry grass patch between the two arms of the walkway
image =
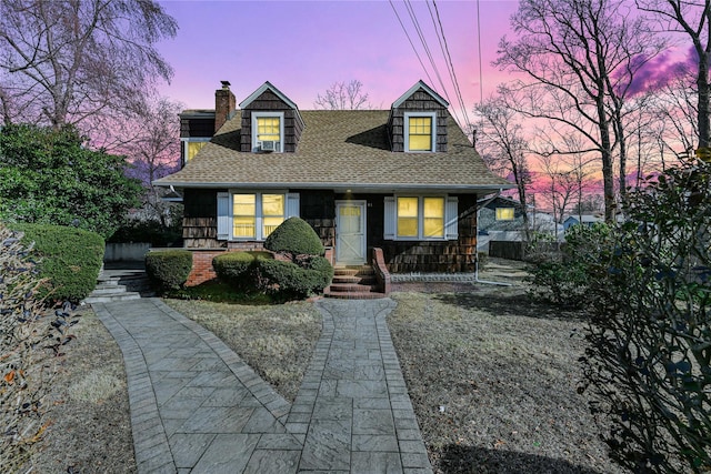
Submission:
<svg viewBox="0 0 711 474">
<path fill-rule="evenodd" d="M 321 335 L 321 313 L 313 304 L 252 306 L 194 300 L 166 303 L 214 333 L 279 394 L 293 402 Z"/>
</svg>

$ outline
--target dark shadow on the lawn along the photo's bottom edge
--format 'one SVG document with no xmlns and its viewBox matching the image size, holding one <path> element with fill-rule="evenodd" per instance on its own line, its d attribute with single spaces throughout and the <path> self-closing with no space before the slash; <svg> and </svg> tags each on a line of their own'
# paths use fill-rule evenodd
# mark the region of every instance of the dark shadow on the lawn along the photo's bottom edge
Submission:
<svg viewBox="0 0 711 474">
<path fill-rule="evenodd" d="M 601 474 L 565 460 L 450 444 L 442 450 L 440 470 L 447 474 Z"/>
</svg>

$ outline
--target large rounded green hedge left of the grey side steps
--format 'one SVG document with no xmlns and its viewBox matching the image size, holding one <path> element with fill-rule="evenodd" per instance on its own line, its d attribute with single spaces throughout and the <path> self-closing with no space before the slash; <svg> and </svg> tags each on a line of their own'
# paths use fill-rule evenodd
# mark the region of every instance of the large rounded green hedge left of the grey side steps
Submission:
<svg viewBox="0 0 711 474">
<path fill-rule="evenodd" d="M 38 297 L 77 303 L 97 286 L 103 263 L 101 235 L 76 228 L 46 224 L 11 225 L 24 233 L 22 242 L 32 244 L 32 256 L 39 260 L 40 276 L 47 279 L 38 289 Z"/>
</svg>

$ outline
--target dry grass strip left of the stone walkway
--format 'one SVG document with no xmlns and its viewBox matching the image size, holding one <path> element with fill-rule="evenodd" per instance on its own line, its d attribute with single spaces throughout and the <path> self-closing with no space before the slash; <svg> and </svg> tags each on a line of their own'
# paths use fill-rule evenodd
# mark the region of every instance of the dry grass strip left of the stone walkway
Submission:
<svg viewBox="0 0 711 474">
<path fill-rule="evenodd" d="M 50 474 L 136 473 L 121 351 L 91 310 L 78 314 L 77 339 L 66 346 L 47 401 L 51 424 L 26 467 Z"/>
</svg>

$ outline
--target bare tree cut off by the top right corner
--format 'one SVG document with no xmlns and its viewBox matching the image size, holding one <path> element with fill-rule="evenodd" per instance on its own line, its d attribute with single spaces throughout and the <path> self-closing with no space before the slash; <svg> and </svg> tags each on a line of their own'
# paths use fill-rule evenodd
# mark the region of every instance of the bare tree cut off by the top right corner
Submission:
<svg viewBox="0 0 711 474">
<path fill-rule="evenodd" d="M 638 8 L 650 13 L 664 31 L 685 34 L 693 44 L 697 60 L 697 122 L 699 148 L 709 149 L 711 141 L 711 0 L 635 0 Z M 708 150 L 707 150 L 708 151 Z"/>
</svg>

